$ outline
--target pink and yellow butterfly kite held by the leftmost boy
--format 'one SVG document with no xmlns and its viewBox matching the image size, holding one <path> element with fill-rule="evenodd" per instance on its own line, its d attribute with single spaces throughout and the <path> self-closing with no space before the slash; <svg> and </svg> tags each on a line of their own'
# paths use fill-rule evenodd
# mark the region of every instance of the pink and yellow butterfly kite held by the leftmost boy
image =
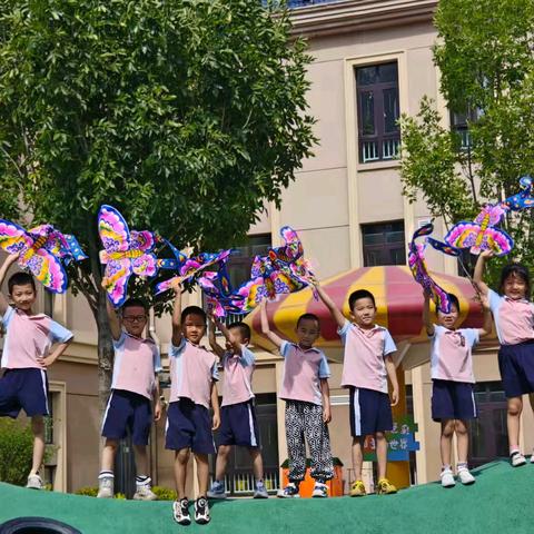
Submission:
<svg viewBox="0 0 534 534">
<path fill-rule="evenodd" d="M 18 264 L 51 293 L 67 290 L 67 274 L 61 264 L 82 260 L 87 256 L 73 236 L 61 234 L 51 225 L 40 225 L 26 231 L 21 226 L 0 219 L 0 248 L 18 254 Z"/>
</svg>

